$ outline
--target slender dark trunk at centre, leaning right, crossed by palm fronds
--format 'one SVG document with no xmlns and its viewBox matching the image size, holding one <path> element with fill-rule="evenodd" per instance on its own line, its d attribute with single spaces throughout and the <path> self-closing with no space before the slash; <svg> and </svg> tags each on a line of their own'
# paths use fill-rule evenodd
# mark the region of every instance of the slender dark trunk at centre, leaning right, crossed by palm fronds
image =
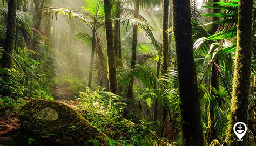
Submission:
<svg viewBox="0 0 256 146">
<path fill-rule="evenodd" d="M 139 2 L 140 0 L 136 0 L 136 4 L 135 4 L 135 13 L 134 13 L 134 18 L 139 18 Z M 132 36 L 132 60 L 131 60 L 131 69 L 135 68 L 136 65 L 136 52 L 137 52 L 137 38 L 138 38 L 138 25 L 134 25 L 133 26 L 133 36 Z M 130 84 L 128 86 L 128 90 L 127 90 L 127 98 L 130 99 L 130 103 L 128 103 L 128 105 L 131 104 L 132 102 L 132 98 L 133 98 L 133 82 L 134 82 L 134 78 L 131 78 Z"/>
</svg>

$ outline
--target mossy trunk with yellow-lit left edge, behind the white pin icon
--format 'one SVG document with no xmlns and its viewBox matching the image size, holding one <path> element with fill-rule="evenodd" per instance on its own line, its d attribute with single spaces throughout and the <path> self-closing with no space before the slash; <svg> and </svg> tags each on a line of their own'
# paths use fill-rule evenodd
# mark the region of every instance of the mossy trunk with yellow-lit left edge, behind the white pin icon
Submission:
<svg viewBox="0 0 256 146">
<path fill-rule="evenodd" d="M 248 96 L 250 89 L 252 55 L 252 9 L 253 0 L 238 3 L 237 50 L 235 52 L 234 84 L 231 112 L 228 116 L 228 145 L 247 145 L 247 134 L 242 142 L 237 141 L 233 126 L 237 122 L 248 123 Z"/>
</svg>

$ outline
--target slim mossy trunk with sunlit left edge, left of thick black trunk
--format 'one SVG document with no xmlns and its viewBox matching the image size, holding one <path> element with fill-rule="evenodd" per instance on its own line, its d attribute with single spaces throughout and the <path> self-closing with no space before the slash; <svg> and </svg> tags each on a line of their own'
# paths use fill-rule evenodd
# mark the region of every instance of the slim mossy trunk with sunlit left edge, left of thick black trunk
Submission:
<svg viewBox="0 0 256 146">
<path fill-rule="evenodd" d="M 162 48 L 162 52 L 163 52 L 163 72 L 162 74 L 164 75 L 167 72 L 168 69 L 168 34 L 167 29 L 168 29 L 168 15 L 169 12 L 169 0 L 163 0 L 163 32 L 162 32 L 162 37 L 163 37 L 163 48 Z M 164 106 L 163 106 L 163 121 L 162 121 L 162 133 L 161 136 L 162 137 L 166 137 L 168 134 L 167 132 L 167 125 L 168 125 L 168 103 L 167 100 L 164 98 Z"/>
</svg>

